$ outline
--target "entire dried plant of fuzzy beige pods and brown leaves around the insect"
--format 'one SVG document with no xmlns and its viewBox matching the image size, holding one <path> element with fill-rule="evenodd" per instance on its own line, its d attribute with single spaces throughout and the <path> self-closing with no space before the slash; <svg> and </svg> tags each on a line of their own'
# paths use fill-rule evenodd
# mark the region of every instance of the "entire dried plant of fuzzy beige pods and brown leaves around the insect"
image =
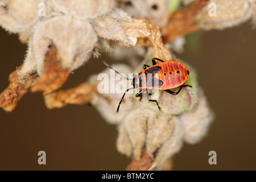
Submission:
<svg viewBox="0 0 256 182">
<path fill-rule="evenodd" d="M 134 67 L 113 65 L 126 74 L 139 72 L 141 65 L 151 64 L 152 57 L 171 61 L 174 55 L 167 44 L 172 44 L 171 49 L 182 49 L 182 37 L 193 31 L 233 27 L 251 18 L 255 22 L 256 4 L 254 0 L 129 2 L 0 0 L 0 25 L 19 34 L 28 45 L 24 64 L 10 74 L 10 85 L 0 94 L 0 107 L 13 111 L 28 89 L 43 92 L 48 109 L 90 103 L 107 122 L 118 126 L 117 149 L 133 158 L 128 170 L 170 169 L 183 142 L 199 142 L 213 120 L 196 72 L 187 63 L 184 64 L 191 75 L 186 84 L 192 88 L 184 88 L 177 96 L 155 92 L 153 97 L 161 111 L 147 97 L 139 101 L 134 94 L 127 94 L 122 109 L 116 113 L 122 93 L 98 93 L 97 75 L 75 88 L 57 89 L 67 81 L 70 72 L 91 55 L 99 58 L 102 50 L 115 50 L 122 55 L 125 52 L 120 50 L 136 47 L 129 49 L 136 62 Z M 40 3 L 46 7 L 45 16 L 38 15 Z M 179 6 L 181 3 L 185 7 Z M 211 3 L 217 5 L 217 16 L 209 16 Z M 143 61 L 137 56 L 141 50 L 138 47 L 147 50 Z M 103 72 L 110 74 L 109 69 Z"/>
</svg>

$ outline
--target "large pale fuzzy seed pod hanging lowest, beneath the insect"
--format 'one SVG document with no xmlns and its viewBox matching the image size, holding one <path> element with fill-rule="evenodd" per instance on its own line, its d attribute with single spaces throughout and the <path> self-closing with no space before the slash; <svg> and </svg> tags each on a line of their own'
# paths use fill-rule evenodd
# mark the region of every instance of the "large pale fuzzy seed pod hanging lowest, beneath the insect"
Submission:
<svg viewBox="0 0 256 182">
<path fill-rule="evenodd" d="M 118 151 L 135 159 L 141 158 L 143 147 L 154 160 L 153 167 L 164 163 L 183 146 L 195 144 L 207 133 L 213 114 L 203 92 L 192 111 L 178 115 L 150 109 L 135 109 L 118 126 Z"/>
</svg>

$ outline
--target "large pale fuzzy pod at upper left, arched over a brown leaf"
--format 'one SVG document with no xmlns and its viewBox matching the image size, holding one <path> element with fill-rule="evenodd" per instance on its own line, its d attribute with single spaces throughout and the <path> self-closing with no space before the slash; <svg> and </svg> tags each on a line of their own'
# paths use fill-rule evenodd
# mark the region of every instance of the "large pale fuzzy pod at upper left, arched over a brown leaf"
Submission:
<svg viewBox="0 0 256 182">
<path fill-rule="evenodd" d="M 44 69 L 44 58 L 49 45 L 56 46 L 62 57 L 63 68 L 76 69 L 89 58 L 97 35 L 88 22 L 72 16 L 54 16 L 37 24 L 30 39 L 27 57 L 20 76 L 36 70 L 39 75 Z"/>
</svg>

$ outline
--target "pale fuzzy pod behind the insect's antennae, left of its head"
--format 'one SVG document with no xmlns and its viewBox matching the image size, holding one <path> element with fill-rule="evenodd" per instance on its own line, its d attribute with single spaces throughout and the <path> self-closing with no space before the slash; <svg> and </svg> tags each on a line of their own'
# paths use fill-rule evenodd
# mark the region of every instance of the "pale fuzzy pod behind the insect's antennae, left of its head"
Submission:
<svg viewBox="0 0 256 182">
<path fill-rule="evenodd" d="M 132 73 L 131 68 L 124 64 L 114 64 L 112 65 L 115 69 L 117 69 L 120 73 L 125 74 L 128 76 L 128 73 Z M 123 121 L 123 119 L 126 117 L 126 115 L 130 112 L 130 110 L 133 109 L 134 104 L 134 95 L 129 93 L 126 94 L 125 100 L 122 103 L 122 112 L 117 113 L 117 106 L 118 103 L 123 95 L 123 92 L 128 88 L 128 86 L 131 86 L 130 82 L 127 82 L 127 80 L 122 79 L 120 82 L 122 85 L 122 90 L 120 93 L 110 93 L 111 86 L 112 88 L 118 84 L 118 82 L 115 82 L 115 73 L 111 71 L 109 68 L 106 68 L 102 72 L 106 77 L 103 78 L 98 75 L 90 76 L 89 82 L 92 85 L 95 85 L 99 90 L 106 90 L 106 93 L 102 94 L 92 94 L 92 105 L 98 109 L 102 117 L 106 119 L 109 123 L 120 123 Z M 104 76 L 103 75 L 103 76 Z M 111 76 L 110 76 L 111 75 Z M 113 80 L 110 80 L 112 78 Z M 129 84 L 129 85 L 127 85 Z M 104 86 L 101 85 L 109 85 L 109 87 L 106 89 Z"/>
</svg>

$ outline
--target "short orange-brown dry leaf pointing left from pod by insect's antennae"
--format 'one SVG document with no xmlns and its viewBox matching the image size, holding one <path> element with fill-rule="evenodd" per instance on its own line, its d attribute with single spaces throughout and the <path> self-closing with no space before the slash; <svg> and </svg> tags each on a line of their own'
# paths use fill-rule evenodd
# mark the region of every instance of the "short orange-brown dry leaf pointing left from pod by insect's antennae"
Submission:
<svg viewBox="0 0 256 182">
<path fill-rule="evenodd" d="M 61 108 L 68 104 L 88 104 L 91 98 L 90 94 L 96 91 L 94 85 L 84 82 L 75 88 L 59 90 L 44 96 L 44 102 L 48 109 Z"/>
</svg>

